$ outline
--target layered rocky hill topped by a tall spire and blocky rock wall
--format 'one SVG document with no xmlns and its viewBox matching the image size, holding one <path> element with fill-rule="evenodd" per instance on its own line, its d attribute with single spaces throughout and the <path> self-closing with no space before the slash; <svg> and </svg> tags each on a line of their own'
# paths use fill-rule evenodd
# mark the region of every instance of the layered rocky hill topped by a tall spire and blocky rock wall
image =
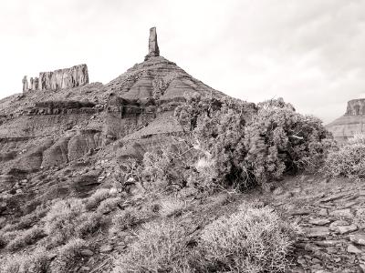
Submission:
<svg viewBox="0 0 365 273">
<path fill-rule="evenodd" d="M 184 96 L 224 96 L 160 56 L 154 28 L 149 44 L 144 62 L 107 85 L 88 84 L 88 68 L 74 66 L 40 73 L 29 86 L 24 80 L 23 94 L 2 99 L 0 174 L 6 187 L 16 184 L 12 176 L 85 156 L 98 161 L 109 149 L 136 156 L 136 146 L 144 149 L 183 130 L 173 109 Z"/>
</svg>

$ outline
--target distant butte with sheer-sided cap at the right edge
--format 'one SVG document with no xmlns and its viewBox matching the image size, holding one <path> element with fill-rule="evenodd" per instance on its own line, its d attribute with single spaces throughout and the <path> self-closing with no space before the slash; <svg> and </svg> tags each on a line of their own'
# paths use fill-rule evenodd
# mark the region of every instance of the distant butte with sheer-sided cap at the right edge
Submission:
<svg viewBox="0 0 365 273">
<path fill-rule="evenodd" d="M 326 127 L 338 142 L 344 142 L 355 134 L 365 133 L 365 99 L 350 100 L 345 115 Z"/>
</svg>

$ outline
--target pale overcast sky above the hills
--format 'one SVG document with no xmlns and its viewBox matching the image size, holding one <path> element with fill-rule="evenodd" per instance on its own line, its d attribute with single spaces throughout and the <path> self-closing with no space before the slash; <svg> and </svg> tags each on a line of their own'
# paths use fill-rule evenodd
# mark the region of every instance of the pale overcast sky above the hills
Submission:
<svg viewBox="0 0 365 273">
<path fill-rule="evenodd" d="M 106 84 L 143 61 L 151 26 L 162 56 L 230 96 L 325 123 L 365 97 L 362 0 L 1 0 L 0 98 L 81 63 Z"/>
</svg>

